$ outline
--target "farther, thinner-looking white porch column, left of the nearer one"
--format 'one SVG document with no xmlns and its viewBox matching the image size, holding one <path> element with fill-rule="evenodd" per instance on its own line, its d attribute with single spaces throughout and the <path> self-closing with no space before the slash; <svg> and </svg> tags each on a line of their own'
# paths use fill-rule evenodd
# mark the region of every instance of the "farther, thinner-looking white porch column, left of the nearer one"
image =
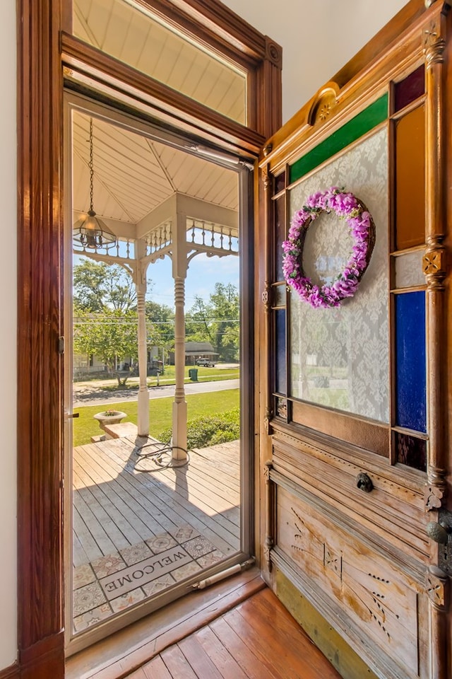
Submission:
<svg viewBox="0 0 452 679">
<path fill-rule="evenodd" d="M 146 247 L 143 240 L 135 241 L 136 252 L 136 306 L 138 311 L 138 436 L 149 436 L 149 391 L 148 391 L 148 334 L 146 332 L 145 294 L 146 272 L 148 265 L 144 265 Z"/>
</svg>

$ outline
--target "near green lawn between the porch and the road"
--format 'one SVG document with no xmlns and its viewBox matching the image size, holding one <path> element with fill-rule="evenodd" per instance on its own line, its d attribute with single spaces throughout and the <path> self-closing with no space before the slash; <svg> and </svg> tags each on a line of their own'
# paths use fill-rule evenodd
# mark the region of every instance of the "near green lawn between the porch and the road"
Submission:
<svg viewBox="0 0 452 679">
<path fill-rule="evenodd" d="M 211 368 L 210 368 L 211 369 Z M 150 436 L 158 438 L 160 431 L 171 426 L 173 397 L 153 398 L 149 401 Z M 190 394 L 186 396 L 188 419 L 201 417 L 201 415 L 216 415 L 239 407 L 239 390 L 214 391 L 203 394 Z M 93 415 L 105 409 L 121 410 L 127 413 L 123 422 L 137 420 L 138 404 L 136 401 L 124 401 L 109 403 L 108 405 L 88 405 L 74 409 L 80 416 L 73 419 L 73 446 L 82 446 L 90 443 L 91 436 L 101 434 L 100 426 L 93 419 Z"/>
</svg>

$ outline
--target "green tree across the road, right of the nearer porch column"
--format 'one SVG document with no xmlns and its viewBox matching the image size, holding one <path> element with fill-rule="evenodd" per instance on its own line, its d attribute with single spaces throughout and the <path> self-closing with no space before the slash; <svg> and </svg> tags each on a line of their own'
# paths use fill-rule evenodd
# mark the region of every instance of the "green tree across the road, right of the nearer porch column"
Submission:
<svg viewBox="0 0 452 679">
<path fill-rule="evenodd" d="M 239 353 L 239 293 L 232 283 L 215 283 L 209 301 L 195 298 L 186 314 L 186 338 L 210 342 L 223 361 L 234 361 Z"/>
</svg>

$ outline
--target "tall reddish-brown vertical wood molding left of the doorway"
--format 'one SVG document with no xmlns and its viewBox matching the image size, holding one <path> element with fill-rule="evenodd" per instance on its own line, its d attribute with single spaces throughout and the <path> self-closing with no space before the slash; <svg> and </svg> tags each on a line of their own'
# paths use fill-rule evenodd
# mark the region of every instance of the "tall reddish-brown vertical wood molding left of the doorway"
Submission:
<svg viewBox="0 0 452 679">
<path fill-rule="evenodd" d="M 59 0 L 18 2 L 18 645 L 34 679 L 64 676 L 60 21 Z"/>
</svg>

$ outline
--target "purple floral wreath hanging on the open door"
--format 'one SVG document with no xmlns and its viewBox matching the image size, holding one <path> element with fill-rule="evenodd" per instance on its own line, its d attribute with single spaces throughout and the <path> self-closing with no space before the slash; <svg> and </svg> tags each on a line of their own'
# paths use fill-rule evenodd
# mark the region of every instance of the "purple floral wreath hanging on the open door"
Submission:
<svg viewBox="0 0 452 679">
<path fill-rule="evenodd" d="M 355 245 L 350 260 L 335 282 L 319 287 L 304 273 L 304 239 L 314 219 L 322 212 L 329 214 L 332 210 L 347 221 L 350 233 L 355 238 Z M 345 193 L 345 189 L 336 186 L 325 192 L 316 192 L 292 216 L 287 240 L 283 243 L 285 280 L 313 308 L 340 306 L 344 298 L 352 297 L 357 291 L 359 281 L 369 265 L 374 242 L 375 224 L 364 203 L 352 193 Z"/>
</svg>

